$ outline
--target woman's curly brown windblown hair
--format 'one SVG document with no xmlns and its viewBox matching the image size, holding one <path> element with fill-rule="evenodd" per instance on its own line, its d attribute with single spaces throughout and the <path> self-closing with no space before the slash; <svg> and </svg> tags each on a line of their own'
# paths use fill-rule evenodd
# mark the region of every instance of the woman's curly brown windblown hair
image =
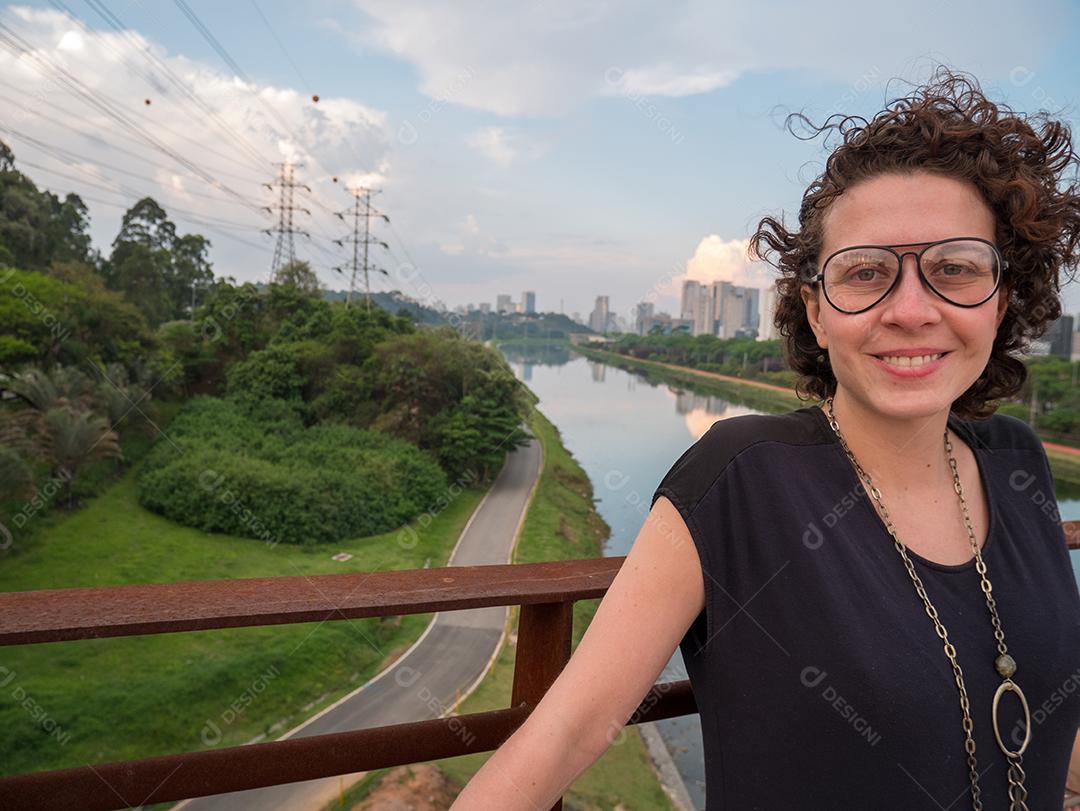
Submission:
<svg viewBox="0 0 1080 811">
<path fill-rule="evenodd" d="M 839 121 L 831 123 L 837 117 Z M 1066 268 L 1075 272 L 1080 261 L 1080 184 L 1074 177 L 1059 188 L 1066 168 L 1080 164 L 1068 125 L 1044 111 L 1022 116 L 995 104 L 973 77 L 945 66 L 872 121 L 835 113 L 818 127 L 801 112 L 793 112 L 785 125 L 793 120 L 806 122 L 811 138 L 828 130 L 843 136 L 802 195 L 799 230 L 788 231 L 783 215 L 780 221 L 767 216 L 750 239 L 748 256 L 781 273 L 774 325 L 788 365 L 799 373 L 796 394 L 806 400 L 836 392 L 828 352 L 818 346 L 799 295 L 802 285 L 818 286 L 805 280 L 816 272 L 829 201 L 875 175 L 927 171 L 978 189 L 994 212 L 996 242 L 1009 262 L 1001 289 L 1009 303 L 989 361 L 951 405 L 962 419 L 988 418 L 997 409 L 995 401 L 1013 396 L 1024 386 L 1027 367 L 1014 352 L 1026 351 L 1027 342 L 1061 316 L 1058 274 Z"/>
</svg>

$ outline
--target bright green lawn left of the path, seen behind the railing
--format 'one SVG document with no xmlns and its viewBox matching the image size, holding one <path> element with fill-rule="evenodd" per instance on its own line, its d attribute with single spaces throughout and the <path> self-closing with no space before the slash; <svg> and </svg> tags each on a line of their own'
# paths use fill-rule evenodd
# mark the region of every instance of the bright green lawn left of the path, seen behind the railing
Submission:
<svg viewBox="0 0 1080 811">
<path fill-rule="evenodd" d="M 414 522 L 419 540 L 411 548 L 397 544 L 396 532 L 318 548 L 269 546 L 180 527 L 144 510 L 136 475 L 129 471 L 78 512 L 36 518 L 41 526 L 28 548 L 0 556 L 0 591 L 408 569 L 429 559 L 443 566 L 484 495 L 464 490 L 427 527 Z M 353 558 L 332 560 L 337 552 Z M 430 619 L 2 648 L 0 773 L 197 751 L 206 747 L 204 736 L 215 746 L 273 739 L 393 661 Z"/>
</svg>

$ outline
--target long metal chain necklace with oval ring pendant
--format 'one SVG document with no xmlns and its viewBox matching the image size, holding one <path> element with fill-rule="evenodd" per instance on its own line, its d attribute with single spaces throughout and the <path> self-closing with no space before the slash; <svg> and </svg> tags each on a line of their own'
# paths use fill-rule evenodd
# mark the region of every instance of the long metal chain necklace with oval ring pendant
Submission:
<svg viewBox="0 0 1080 811">
<path fill-rule="evenodd" d="M 934 622 L 934 630 L 937 632 L 937 636 L 941 637 L 942 641 L 945 644 L 945 655 L 948 657 L 949 662 L 953 664 L 953 673 L 956 676 L 956 686 L 960 691 L 960 709 L 963 711 L 963 733 L 966 741 L 963 747 L 968 753 L 968 767 L 971 771 L 971 800 L 974 811 L 982 811 L 983 801 L 980 797 L 980 786 L 978 786 L 978 771 L 975 769 L 975 741 L 971 736 L 971 730 L 973 724 L 971 720 L 971 714 L 969 712 L 970 704 L 968 701 L 968 690 L 963 686 L 963 674 L 960 671 L 960 665 L 956 661 L 956 648 L 948 640 L 948 633 L 945 631 L 945 626 L 942 624 L 941 619 L 937 617 L 937 610 L 931 605 L 930 598 L 927 596 L 927 590 L 922 586 L 922 580 L 919 578 L 918 573 L 915 571 L 915 566 L 912 564 L 912 558 L 907 556 L 907 548 L 904 545 L 903 541 L 896 535 L 896 529 L 892 525 L 892 521 L 889 518 L 889 511 L 885 506 L 885 502 L 881 500 L 881 492 L 870 481 L 869 475 L 863 470 L 862 465 L 859 464 L 859 460 L 855 459 L 854 454 L 851 452 L 851 448 L 848 447 L 848 443 L 843 438 L 843 434 L 840 433 L 840 427 L 836 423 L 836 417 L 833 415 L 833 397 L 827 397 L 825 400 L 828 405 L 828 424 L 832 425 L 833 431 L 840 440 L 840 445 L 843 447 L 843 451 L 848 455 L 851 463 L 855 465 L 855 470 L 859 472 L 860 477 L 866 483 L 870 496 L 878 502 L 878 506 L 881 509 L 881 513 L 885 517 L 886 528 L 889 530 L 889 535 L 892 536 L 893 543 L 896 546 L 896 551 L 900 556 L 904 559 L 904 566 L 907 567 L 907 573 L 912 577 L 912 582 L 915 583 L 915 591 L 918 592 L 919 596 L 922 598 L 922 603 L 926 606 L 927 614 Z M 998 746 L 1004 753 L 1005 758 L 1009 761 L 1009 811 L 1028 811 L 1027 808 L 1027 789 L 1024 787 L 1024 768 L 1022 762 L 1022 755 L 1024 749 L 1027 748 L 1028 743 L 1031 740 L 1031 714 L 1028 711 L 1027 699 L 1024 697 L 1023 691 L 1020 686 L 1012 680 L 1012 675 L 1016 672 L 1016 662 L 1005 648 L 1005 635 L 1001 630 L 1001 620 L 998 618 L 998 607 L 994 600 L 994 595 L 990 593 L 990 581 L 986 577 L 986 564 L 983 563 L 983 556 L 978 552 L 978 543 L 975 541 L 975 530 L 971 527 L 971 516 L 968 514 L 968 502 L 963 498 L 963 487 L 960 485 L 960 474 L 957 473 L 956 459 L 953 456 L 953 444 L 948 440 L 948 428 L 945 429 L 945 455 L 948 458 L 949 467 L 953 469 L 953 486 L 960 497 L 960 506 L 963 510 L 963 522 L 968 526 L 968 539 L 971 541 L 971 548 L 975 552 L 975 569 L 978 570 L 978 575 L 983 580 L 983 594 L 986 595 L 986 606 L 990 609 L 990 622 L 994 624 L 994 636 L 998 640 L 998 658 L 994 661 L 994 666 L 998 674 L 1003 679 L 998 686 L 997 692 L 994 693 L 994 704 L 993 704 L 993 724 L 994 724 L 994 736 L 998 741 Z M 998 702 L 1000 702 L 1001 697 L 1008 691 L 1016 693 L 1020 698 L 1021 705 L 1024 708 L 1024 743 L 1023 745 L 1014 751 L 1009 749 L 1001 740 L 1001 733 L 998 731 Z"/>
</svg>

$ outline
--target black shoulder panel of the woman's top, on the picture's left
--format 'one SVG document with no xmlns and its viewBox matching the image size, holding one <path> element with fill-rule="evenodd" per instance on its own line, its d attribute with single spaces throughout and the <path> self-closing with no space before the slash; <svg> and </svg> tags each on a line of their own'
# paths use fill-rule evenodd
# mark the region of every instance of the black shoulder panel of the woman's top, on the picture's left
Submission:
<svg viewBox="0 0 1080 811">
<path fill-rule="evenodd" d="M 804 406 L 784 414 L 741 414 L 716 420 L 675 459 L 653 492 L 652 502 L 666 496 L 680 510 L 692 510 L 731 462 L 756 445 L 829 442 L 823 432 L 825 419 L 818 406 Z"/>
</svg>

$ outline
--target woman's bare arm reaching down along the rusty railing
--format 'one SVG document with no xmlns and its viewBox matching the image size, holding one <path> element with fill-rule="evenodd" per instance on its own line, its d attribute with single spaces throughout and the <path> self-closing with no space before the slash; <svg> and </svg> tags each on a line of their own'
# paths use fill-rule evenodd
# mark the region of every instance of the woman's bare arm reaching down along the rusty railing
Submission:
<svg viewBox="0 0 1080 811">
<path fill-rule="evenodd" d="M 551 808 L 616 741 L 705 604 L 698 551 L 657 499 L 566 667 L 451 811 Z"/>
</svg>

